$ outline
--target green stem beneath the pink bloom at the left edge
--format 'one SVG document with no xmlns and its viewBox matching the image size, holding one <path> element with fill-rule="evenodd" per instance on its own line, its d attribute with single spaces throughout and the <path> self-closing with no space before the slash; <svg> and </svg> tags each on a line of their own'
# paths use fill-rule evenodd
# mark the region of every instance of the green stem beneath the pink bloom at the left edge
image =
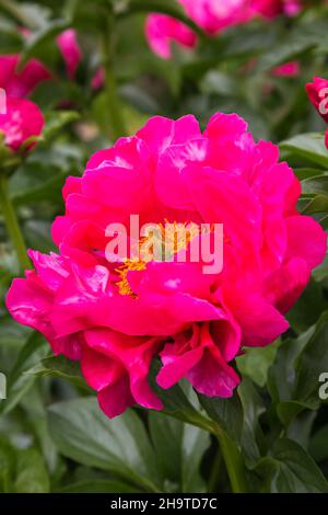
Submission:
<svg viewBox="0 0 328 515">
<path fill-rule="evenodd" d="M 8 233 L 11 238 L 13 248 L 15 249 L 17 260 L 21 264 L 22 270 L 30 268 L 31 262 L 27 256 L 25 241 L 19 226 L 17 217 L 11 203 L 7 178 L 1 175 L 0 172 L 0 207 L 3 214 L 4 224 L 7 226 Z"/>
</svg>

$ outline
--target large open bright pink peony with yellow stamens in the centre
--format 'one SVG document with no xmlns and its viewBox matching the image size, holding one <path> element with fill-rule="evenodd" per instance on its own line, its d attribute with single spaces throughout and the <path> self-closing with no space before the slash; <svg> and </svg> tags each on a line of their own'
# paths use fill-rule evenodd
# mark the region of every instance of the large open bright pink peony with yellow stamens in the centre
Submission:
<svg viewBox="0 0 328 515">
<path fill-rule="evenodd" d="M 216 113 L 203 133 L 191 115 L 155 116 L 67 180 L 66 214 L 52 227 L 59 253 L 30 251 L 35 271 L 14 279 L 8 309 L 55 354 L 81 360 L 108 416 L 134 403 L 162 408 L 148 382 L 156 356 L 160 387 L 186 377 L 206 396 L 230 397 L 235 356 L 288 329 L 284 313 L 325 256 L 326 233 L 297 213 L 300 194 L 278 148 L 255 142 L 237 115 Z M 108 260 L 107 226 L 129 228 L 136 214 L 161 227 L 223 224 L 223 268 L 175 259 L 194 238 L 206 242 L 200 232 L 173 240 L 168 261 L 126 251 Z M 148 241 L 128 237 L 131 247 Z"/>
</svg>

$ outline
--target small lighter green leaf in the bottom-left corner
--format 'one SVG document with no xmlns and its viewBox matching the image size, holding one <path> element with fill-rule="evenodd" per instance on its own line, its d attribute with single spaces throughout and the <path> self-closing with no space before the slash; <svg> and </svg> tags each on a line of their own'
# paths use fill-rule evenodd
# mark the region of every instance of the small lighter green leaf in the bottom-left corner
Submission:
<svg viewBox="0 0 328 515">
<path fill-rule="evenodd" d="M 16 493 L 48 493 L 50 490 L 48 473 L 42 455 L 34 448 L 20 449 L 16 453 Z"/>
</svg>

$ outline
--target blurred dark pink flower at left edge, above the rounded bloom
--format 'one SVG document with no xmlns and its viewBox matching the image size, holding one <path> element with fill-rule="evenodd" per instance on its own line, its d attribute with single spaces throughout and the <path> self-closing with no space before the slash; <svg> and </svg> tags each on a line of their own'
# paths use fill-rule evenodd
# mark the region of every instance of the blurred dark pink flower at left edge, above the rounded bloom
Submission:
<svg viewBox="0 0 328 515">
<path fill-rule="evenodd" d="M 40 82 L 51 78 L 47 68 L 37 59 L 31 59 L 17 71 L 20 55 L 0 56 L 0 88 L 8 96 L 27 96 Z"/>
</svg>

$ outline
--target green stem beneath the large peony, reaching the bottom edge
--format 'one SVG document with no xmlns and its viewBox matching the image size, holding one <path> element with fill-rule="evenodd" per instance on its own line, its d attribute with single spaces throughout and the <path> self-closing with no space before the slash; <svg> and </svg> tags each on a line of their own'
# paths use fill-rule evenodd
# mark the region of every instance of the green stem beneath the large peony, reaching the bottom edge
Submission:
<svg viewBox="0 0 328 515">
<path fill-rule="evenodd" d="M 245 466 L 237 445 L 219 426 L 216 426 L 215 434 L 219 439 L 221 453 L 225 461 L 225 467 L 231 482 L 232 491 L 234 493 L 248 492 Z"/>
</svg>

